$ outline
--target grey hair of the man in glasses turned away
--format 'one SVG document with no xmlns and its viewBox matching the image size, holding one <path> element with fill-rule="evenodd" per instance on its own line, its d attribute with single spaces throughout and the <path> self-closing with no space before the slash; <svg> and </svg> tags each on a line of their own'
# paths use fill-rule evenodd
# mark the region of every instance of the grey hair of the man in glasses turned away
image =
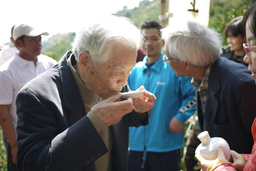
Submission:
<svg viewBox="0 0 256 171">
<path fill-rule="evenodd" d="M 221 38 L 219 34 L 196 22 L 187 22 L 180 30 L 162 30 L 165 49 L 170 56 L 191 63 L 195 67 L 208 67 L 219 56 Z"/>
</svg>

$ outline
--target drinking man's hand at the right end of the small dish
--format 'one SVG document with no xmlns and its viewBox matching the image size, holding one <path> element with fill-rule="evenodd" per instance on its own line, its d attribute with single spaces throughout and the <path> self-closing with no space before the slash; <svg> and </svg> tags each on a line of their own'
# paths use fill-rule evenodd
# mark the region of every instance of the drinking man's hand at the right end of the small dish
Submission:
<svg viewBox="0 0 256 171">
<path fill-rule="evenodd" d="M 144 86 L 141 86 L 139 89 L 145 90 Z M 156 101 L 156 96 L 151 92 L 146 91 L 142 96 L 133 99 L 133 109 L 135 112 L 144 113 L 154 108 Z"/>
</svg>

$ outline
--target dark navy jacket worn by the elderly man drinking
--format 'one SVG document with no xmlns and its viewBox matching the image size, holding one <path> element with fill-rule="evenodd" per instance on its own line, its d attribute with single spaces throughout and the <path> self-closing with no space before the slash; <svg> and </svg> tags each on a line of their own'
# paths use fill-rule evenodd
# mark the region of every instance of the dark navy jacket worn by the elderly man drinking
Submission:
<svg viewBox="0 0 256 171">
<path fill-rule="evenodd" d="M 18 170 L 95 170 L 94 160 L 108 152 L 86 116 L 67 65 L 70 54 L 67 52 L 52 70 L 31 80 L 17 95 Z M 112 170 L 127 169 L 129 126 L 147 123 L 147 119 L 140 122 L 131 113 L 112 125 Z"/>
</svg>

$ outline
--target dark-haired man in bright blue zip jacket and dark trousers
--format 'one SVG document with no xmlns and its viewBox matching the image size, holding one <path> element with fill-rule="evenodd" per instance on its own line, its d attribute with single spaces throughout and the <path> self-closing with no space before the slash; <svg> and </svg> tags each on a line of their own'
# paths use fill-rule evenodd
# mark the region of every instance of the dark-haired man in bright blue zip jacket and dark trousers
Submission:
<svg viewBox="0 0 256 171">
<path fill-rule="evenodd" d="M 161 53 L 164 40 L 159 22 L 140 25 L 146 56 L 129 75 L 131 90 L 141 85 L 155 94 L 147 126 L 130 127 L 129 170 L 180 170 L 179 149 L 183 146 L 183 123 L 195 113 L 195 91 L 189 77 L 177 77 Z"/>
</svg>

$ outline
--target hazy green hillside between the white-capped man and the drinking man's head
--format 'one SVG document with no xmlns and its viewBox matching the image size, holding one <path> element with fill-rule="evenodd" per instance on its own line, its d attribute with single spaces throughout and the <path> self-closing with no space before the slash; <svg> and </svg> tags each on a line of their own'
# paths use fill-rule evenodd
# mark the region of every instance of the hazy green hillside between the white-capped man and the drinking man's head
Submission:
<svg viewBox="0 0 256 171">
<path fill-rule="evenodd" d="M 42 54 L 50 56 L 55 60 L 59 60 L 68 50 L 71 50 L 71 42 L 75 37 L 74 32 L 52 36 L 48 41 L 44 42 Z"/>
</svg>

